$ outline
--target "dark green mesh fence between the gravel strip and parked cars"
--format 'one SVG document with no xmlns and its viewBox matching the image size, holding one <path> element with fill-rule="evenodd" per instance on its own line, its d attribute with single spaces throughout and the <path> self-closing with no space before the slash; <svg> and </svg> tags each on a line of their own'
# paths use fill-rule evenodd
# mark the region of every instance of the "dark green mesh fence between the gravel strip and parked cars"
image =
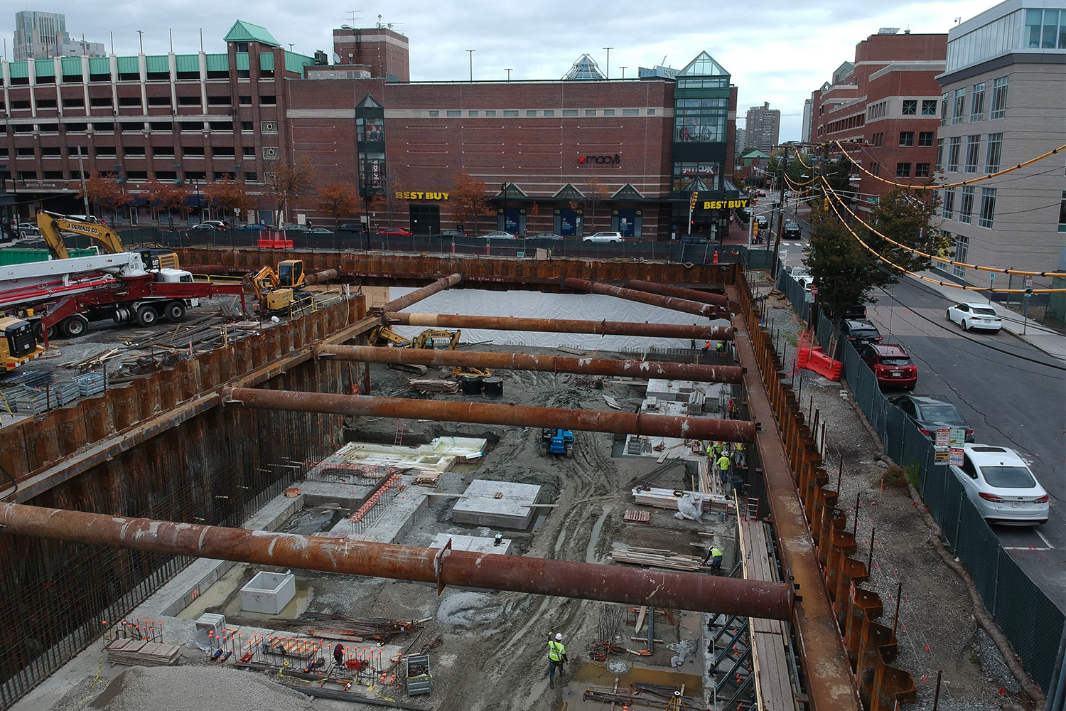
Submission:
<svg viewBox="0 0 1066 711">
<path fill-rule="evenodd" d="M 831 321 L 820 319 L 819 342 L 828 343 L 831 335 Z M 934 464 L 933 443 L 888 402 L 855 348 L 845 340 L 837 355 L 844 362 L 843 377 L 855 402 L 881 436 L 885 453 L 902 467 L 918 467 L 920 494 L 943 537 L 970 572 L 985 609 L 1014 645 L 1025 669 L 1047 691 L 1066 616 L 1003 549 L 948 467 Z"/>
</svg>

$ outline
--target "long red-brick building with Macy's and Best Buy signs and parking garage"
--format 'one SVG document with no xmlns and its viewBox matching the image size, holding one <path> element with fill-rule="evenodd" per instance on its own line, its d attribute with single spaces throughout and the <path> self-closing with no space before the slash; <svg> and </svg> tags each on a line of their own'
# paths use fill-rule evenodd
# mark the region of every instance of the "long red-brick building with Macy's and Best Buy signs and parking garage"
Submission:
<svg viewBox="0 0 1066 711">
<path fill-rule="evenodd" d="M 671 239 L 689 231 L 698 192 L 692 231 L 718 238 L 731 210 L 721 201 L 739 198 L 737 87 L 706 53 L 676 77 L 413 83 L 407 38 L 387 28 L 335 30 L 332 63 L 248 22 L 225 39 L 225 54 L 0 63 L 0 171 L 18 216 L 34 203 L 81 212 L 79 180 L 95 171 L 138 196 L 130 222 L 150 213 L 144 181 L 182 181 L 201 203 L 204 182 L 227 176 L 272 222 L 266 174 L 297 156 L 320 184 L 402 200 L 390 222 L 420 233 L 459 222 L 449 201 L 459 173 L 487 185 L 482 232 Z M 316 201 L 302 196 L 282 220 L 319 219 Z"/>
</svg>

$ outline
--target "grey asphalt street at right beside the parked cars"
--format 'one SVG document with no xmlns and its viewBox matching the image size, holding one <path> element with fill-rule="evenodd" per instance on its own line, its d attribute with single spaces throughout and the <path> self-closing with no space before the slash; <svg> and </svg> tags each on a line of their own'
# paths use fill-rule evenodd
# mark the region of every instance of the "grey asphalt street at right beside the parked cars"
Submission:
<svg viewBox="0 0 1066 711">
<path fill-rule="evenodd" d="M 1066 366 L 1017 336 L 963 332 L 944 317 L 952 303 L 910 279 L 868 307 L 886 343 L 918 366 L 916 393 L 955 403 L 978 442 L 1010 447 L 1051 496 L 1041 527 L 994 526 L 1004 549 L 1066 611 Z M 978 301 L 978 297 L 973 297 Z"/>
</svg>

